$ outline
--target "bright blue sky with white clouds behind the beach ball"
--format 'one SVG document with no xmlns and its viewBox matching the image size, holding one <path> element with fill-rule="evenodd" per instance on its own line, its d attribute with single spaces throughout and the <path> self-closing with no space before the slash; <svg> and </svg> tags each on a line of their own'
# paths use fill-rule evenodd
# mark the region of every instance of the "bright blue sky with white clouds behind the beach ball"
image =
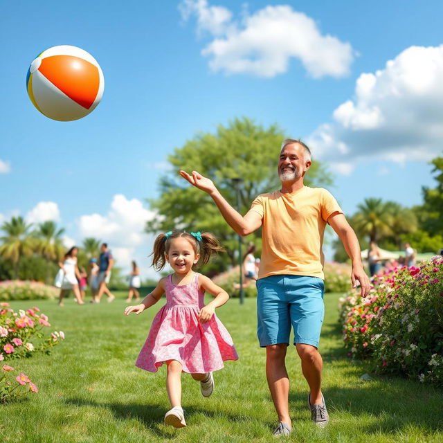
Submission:
<svg viewBox="0 0 443 443">
<path fill-rule="evenodd" d="M 166 157 L 235 116 L 309 141 L 348 214 L 365 197 L 419 204 L 442 154 L 442 14 L 440 1 L 1 2 L 0 221 L 56 219 L 148 275 L 145 198 Z M 105 75 L 100 105 L 69 123 L 25 88 L 35 55 L 60 44 Z"/>
</svg>

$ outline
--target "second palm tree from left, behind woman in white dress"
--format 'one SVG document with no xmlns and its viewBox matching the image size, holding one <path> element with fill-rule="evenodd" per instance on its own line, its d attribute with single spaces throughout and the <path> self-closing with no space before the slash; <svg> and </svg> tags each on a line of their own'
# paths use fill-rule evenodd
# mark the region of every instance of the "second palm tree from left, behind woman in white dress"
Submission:
<svg viewBox="0 0 443 443">
<path fill-rule="evenodd" d="M 37 252 L 48 260 L 48 262 L 57 262 L 64 253 L 62 234 L 64 228 L 57 229 L 55 221 L 48 220 L 40 223 L 37 230 L 33 233 L 37 238 Z M 46 284 L 51 280 L 51 266 L 47 266 Z"/>
</svg>

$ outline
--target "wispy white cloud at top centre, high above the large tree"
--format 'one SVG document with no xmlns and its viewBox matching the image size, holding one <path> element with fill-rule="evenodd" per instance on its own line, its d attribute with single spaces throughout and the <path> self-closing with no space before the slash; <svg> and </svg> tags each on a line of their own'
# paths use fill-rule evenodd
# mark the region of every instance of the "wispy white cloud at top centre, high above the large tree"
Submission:
<svg viewBox="0 0 443 443">
<path fill-rule="evenodd" d="M 226 8 L 207 0 L 185 0 L 182 18 L 197 17 L 197 31 L 213 37 L 202 51 L 213 71 L 274 77 L 287 71 L 292 58 L 300 60 L 313 78 L 343 77 L 354 60 L 352 46 L 337 37 L 322 35 L 316 22 L 291 6 L 266 6 L 255 14 L 232 19 Z"/>
</svg>

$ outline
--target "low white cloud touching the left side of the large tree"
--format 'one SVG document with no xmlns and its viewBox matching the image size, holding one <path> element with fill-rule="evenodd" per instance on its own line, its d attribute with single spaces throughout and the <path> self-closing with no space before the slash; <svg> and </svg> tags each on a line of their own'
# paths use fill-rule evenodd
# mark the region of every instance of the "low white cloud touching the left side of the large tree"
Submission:
<svg viewBox="0 0 443 443">
<path fill-rule="evenodd" d="M 136 260 L 143 277 L 155 276 L 149 268 L 147 256 L 152 252 L 152 236 L 144 233 L 146 221 L 154 217 L 152 211 L 143 207 L 138 199 L 114 195 L 106 215 L 82 215 L 78 219 L 80 238 L 95 237 L 106 242 L 116 258 L 116 265 L 129 269 Z"/>
</svg>

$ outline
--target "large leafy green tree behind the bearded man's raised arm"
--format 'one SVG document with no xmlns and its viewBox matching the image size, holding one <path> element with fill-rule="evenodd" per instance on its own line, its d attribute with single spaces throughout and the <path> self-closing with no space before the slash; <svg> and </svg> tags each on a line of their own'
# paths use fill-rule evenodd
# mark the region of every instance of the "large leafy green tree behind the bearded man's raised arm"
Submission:
<svg viewBox="0 0 443 443">
<path fill-rule="evenodd" d="M 235 179 L 239 183 L 239 212 L 247 212 L 257 195 L 280 188 L 277 164 L 284 133 L 277 125 L 268 128 L 248 118 L 235 118 L 228 126 L 219 125 L 215 134 L 201 133 L 168 157 L 172 168 L 160 180 L 160 198 L 150 200 L 159 217 L 147 223 L 148 233 L 174 228 L 215 233 L 225 246 L 229 261 L 235 262 L 237 236 L 221 217 L 213 200 L 179 177 L 179 170 L 197 170 L 215 181 L 221 194 L 237 207 Z M 329 172 L 314 161 L 305 184 L 329 185 Z M 251 239 L 260 233 L 251 235 Z M 228 261 L 219 257 L 219 270 Z"/>
</svg>

